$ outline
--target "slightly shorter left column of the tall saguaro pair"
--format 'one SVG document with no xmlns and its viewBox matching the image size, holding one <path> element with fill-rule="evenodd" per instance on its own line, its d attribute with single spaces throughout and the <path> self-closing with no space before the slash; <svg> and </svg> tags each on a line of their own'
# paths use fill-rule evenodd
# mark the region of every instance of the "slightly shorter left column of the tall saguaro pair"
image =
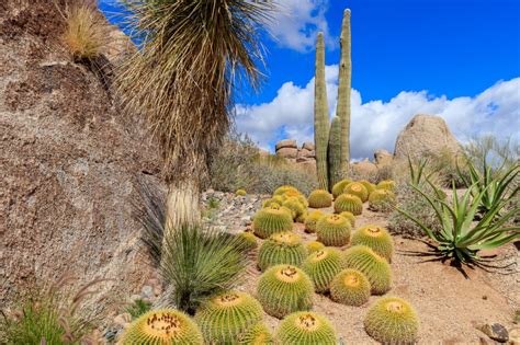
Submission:
<svg viewBox="0 0 520 345">
<path fill-rule="evenodd" d="M 314 142 L 316 149 L 316 170 L 321 189 L 328 189 L 327 146 L 329 130 L 329 107 L 325 84 L 325 43 L 324 34 L 318 33 L 316 42 L 316 74 L 314 80 Z"/>
</svg>

